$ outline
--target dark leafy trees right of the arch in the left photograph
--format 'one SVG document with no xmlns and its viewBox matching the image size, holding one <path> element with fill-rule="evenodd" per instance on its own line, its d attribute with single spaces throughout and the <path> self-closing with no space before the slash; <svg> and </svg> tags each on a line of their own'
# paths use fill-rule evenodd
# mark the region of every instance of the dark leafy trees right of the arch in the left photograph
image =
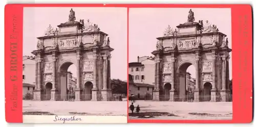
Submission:
<svg viewBox="0 0 256 127">
<path fill-rule="evenodd" d="M 123 82 L 119 79 L 111 80 L 112 92 L 127 94 L 127 82 Z"/>
</svg>

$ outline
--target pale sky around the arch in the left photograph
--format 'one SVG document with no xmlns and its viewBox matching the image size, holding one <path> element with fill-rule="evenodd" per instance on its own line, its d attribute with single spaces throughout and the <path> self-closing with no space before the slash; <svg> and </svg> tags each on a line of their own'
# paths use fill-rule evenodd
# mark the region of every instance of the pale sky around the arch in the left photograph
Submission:
<svg viewBox="0 0 256 127">
<path fill-rule="evenodd" d="M 32 56 L 36 49 L 37 37 L 44 36 L 51 24 L 57 28 L 60 23 L 69 19 L 72 7 L 36 7 L 24 8 L 23 56 Z M 90 19 L 98 24 L 100 30 L 110 37 L 110 46 L 114 48 L 111 58 L 111 78 L 127 79 L 127 9 L 126 8 L 96 8 L 74 7 L 76 21 Z M 76 77 L 76 67 L 68 69 Z"/>
</svg>

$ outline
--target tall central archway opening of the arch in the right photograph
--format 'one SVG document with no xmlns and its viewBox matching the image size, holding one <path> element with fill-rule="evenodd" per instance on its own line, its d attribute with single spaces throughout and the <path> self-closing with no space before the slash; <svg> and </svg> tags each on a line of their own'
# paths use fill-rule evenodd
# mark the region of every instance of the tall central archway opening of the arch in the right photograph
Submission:
<svg viewBox="0 0 256 127">
<path fill-rule="evenodd" d="M 196 85 L 196 69 L 191 61 L 183 61 L 180 63 L 177 70 L 177 101 L 190 100 L 194 96 L 194 87 Z"/>
</svg>

